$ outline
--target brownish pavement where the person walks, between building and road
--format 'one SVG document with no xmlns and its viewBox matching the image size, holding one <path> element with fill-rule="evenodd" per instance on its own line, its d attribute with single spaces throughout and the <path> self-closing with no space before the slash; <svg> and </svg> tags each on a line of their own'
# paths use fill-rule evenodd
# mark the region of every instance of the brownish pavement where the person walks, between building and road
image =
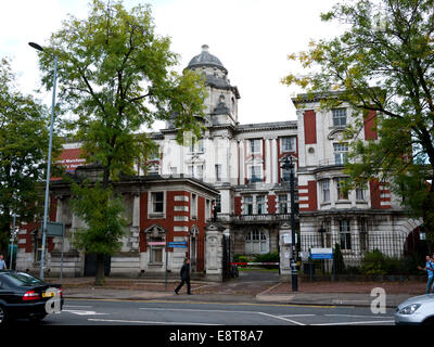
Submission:
<svg viewBox="0 0 434 347">
<path fill-rule="evenodd" d="M 386 294 L 386 307 L 395 308 L 407 298 L 422 295 L 426 284 L 421 281 L 401 282 L 309 282 L 299 281 L 296 292 L 292 283 L 279 282 L 277 277 L 240 273 L 240 278 L 222 283 L 191 281 L 192 294 L 184 285 L 175 294 L 179 281 L 169 279 L 106 278 L 103 286 L 94 278 L 46 278 L 46 282 L 62 283 L 66 299 L 116 300 L 183 300 L 190 303 L 248 303 L 308 306 L 370 307 L 379 291 Z M 380 290 L 378 290 L 380 288 Z M 372 292 L 374 291 L 374 292 Z M 376 292 L 375 292 L 376 291 Z M 371 295 L 372 293 L 372 295 Z"/>
</svg>

